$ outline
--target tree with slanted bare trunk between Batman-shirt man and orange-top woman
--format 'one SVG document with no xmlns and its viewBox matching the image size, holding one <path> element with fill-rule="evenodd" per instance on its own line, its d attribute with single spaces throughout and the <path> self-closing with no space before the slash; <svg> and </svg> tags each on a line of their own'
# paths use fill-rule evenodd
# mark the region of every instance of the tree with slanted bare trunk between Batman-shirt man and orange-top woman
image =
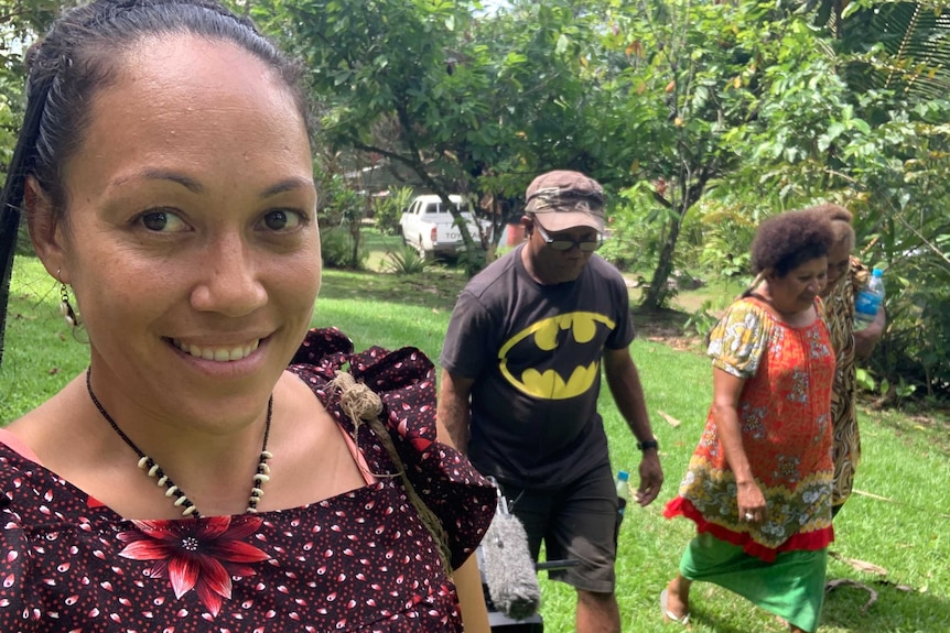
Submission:
<svg viewBox="0 0 950 633">
<path fill-rule="evenodd" d="M 604 35 L 613 63 L 602 90 L 622 95 L 614 124 L 633 165 L 625 195 L 660 227 L 641 303 L 656 309 L 669 298 L 667 280 L 688 214 L 743 159 L 730 131 L 754 117 L 765 88 L 752 35 L 776 35 L 770 14 L 745 3 L 643 2 L 617 20 Z"/>
</svg>

